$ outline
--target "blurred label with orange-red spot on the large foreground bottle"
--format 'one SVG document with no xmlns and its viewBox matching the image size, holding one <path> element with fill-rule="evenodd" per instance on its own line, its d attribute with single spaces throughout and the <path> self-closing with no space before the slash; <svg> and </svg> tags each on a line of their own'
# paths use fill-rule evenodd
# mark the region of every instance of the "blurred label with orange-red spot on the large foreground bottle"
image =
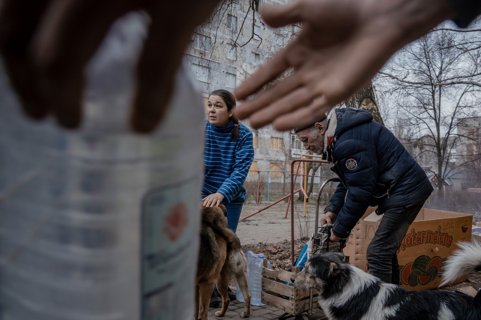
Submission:
<svg viewBox="0 0 481 320">
<path fill-rule="evenodd" d="M 194 315 L 199 178 L 151 190 L 142 203 L 142 320 Z"/>
</svg>

